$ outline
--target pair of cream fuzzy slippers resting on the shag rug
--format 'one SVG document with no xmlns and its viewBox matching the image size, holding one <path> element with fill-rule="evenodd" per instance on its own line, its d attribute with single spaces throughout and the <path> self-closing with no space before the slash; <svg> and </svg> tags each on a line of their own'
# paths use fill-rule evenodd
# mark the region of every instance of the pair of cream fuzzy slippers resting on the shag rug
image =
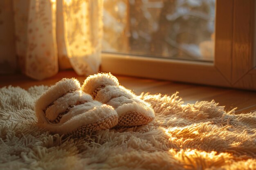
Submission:
<svg viewBox="0 0 256 170">
<path fill-rule="evenodd" d="M 62 79 L 36 101 L 38 126 L 52 133 L 81 137 L 115 126 L 140 126 L 155 117 L 150 104 L 119 85 L 110 73 Z"/>
</svg>

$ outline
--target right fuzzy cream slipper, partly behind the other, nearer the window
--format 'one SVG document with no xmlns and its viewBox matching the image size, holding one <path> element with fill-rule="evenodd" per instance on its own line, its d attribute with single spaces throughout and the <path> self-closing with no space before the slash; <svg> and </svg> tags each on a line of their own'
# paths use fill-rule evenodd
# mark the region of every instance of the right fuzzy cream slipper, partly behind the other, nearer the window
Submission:
<svg viewBox="0 0 256 170">
<path fill-rule="evenodd" d="M 99 102 L 113 106 L 119 116 L 117 126 L 139 126 L 155 118 L 150 104 L 120 86 L 117 78 L 110 73 L 90 75 L 85 79 L 82 91 Z"/>
</svg>

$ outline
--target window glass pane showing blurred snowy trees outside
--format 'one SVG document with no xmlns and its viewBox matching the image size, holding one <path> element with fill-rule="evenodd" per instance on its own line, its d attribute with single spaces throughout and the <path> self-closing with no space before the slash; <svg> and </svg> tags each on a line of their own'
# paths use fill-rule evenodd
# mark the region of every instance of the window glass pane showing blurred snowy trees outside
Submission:
<svg viewBox="0 0 256 170">
<path fill-rule="evenodd" d="M 104 0 L 103 51 L 213 61 L 215 0 Z"/>
</svg>

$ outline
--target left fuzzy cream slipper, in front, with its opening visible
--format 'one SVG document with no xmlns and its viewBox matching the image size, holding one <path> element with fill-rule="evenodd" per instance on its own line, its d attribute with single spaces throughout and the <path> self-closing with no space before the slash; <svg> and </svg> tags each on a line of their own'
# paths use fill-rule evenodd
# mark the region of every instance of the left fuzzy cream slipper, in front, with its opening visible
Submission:
<svg viewBox="0 0 256 170">
<path fill-rule="evenodd" d="M 62 79 L 49 87 L 36 101 L 35 110 L 38 126 L 74 137 L 109 129 L 118 123 L 115 109 L 82 92 L 74 78 Z"/>
</svg>

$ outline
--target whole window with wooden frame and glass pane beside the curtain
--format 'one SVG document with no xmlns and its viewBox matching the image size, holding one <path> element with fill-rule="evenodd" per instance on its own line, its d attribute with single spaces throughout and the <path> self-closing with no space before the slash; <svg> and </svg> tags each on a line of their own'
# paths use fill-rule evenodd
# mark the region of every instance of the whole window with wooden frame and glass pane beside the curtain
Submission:
<svg viewBox="0 0 256 170">
<path fill-rule="evenodd" d="M 256 90 L 254 0 L 113 2 L 102 71 Z"/>
</svg>

